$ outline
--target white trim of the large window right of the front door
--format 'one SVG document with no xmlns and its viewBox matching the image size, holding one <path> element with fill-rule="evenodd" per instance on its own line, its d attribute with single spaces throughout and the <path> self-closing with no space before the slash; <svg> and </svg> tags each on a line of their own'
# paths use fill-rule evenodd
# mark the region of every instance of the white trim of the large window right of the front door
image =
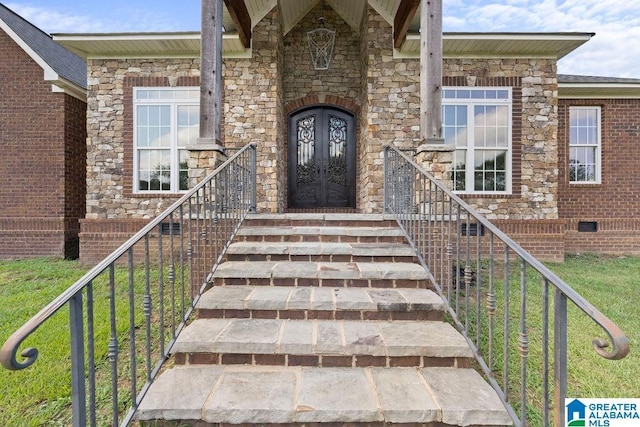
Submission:
<svg viewBox="0 0 640 427">
<path fill-rule="evenodd" d="M 454 190 L 454 193 L 457 194 L 482 194 L 482 195 L 511 195 L 512 194 L 512 185 L 513 185 L 513 88 L 509 86 L 480 86 L 480 87 L 471 87 L 471 86 L 448 86 L 443 87 L 444 90 L 504 90 L 508 93 L 508 98 L 500 98 L 500 99 L 487 99 L 487 98 L 467 98 L 467 99 L 452 99 L 452 98 L 443 98 L 443 105 L 466 105 L 470 108 L 467 109 L 467 123 L 473 123 L 473 107 L 475 105 L 506 105 L 508 107 L 508 117 L 507 117 L 507 134 L 508 134 L 508 143 L 507 143 L 507 158 L 505 160 L 505 169 L 506 169 L 506 188 L 505 191 L 478 191 L 474 190 L 473 185 L 473 175 L 474 175 L 474 161 L 473 161 L 473 152 L 475 152 L 476 147 L 473 146 L 474 138 L 473 126 L 467 126 L 467 171 L 465 174 L 465 190 Z M 458 147 L 455 147 L 456 149 Z M 463 147 L 460 147 L 462 149 Z M 471 148 L 471 149 L 470 149 Z M 504 147 L 490 147 L 490 149 L 504 149 Z M 471 166 L 471 170 L 469 169 L 469 165 Z M 453 166 L 453 165 L 452 165 Z M 470 188 L 470 190 L 469 190 Z"/>
</svg>

